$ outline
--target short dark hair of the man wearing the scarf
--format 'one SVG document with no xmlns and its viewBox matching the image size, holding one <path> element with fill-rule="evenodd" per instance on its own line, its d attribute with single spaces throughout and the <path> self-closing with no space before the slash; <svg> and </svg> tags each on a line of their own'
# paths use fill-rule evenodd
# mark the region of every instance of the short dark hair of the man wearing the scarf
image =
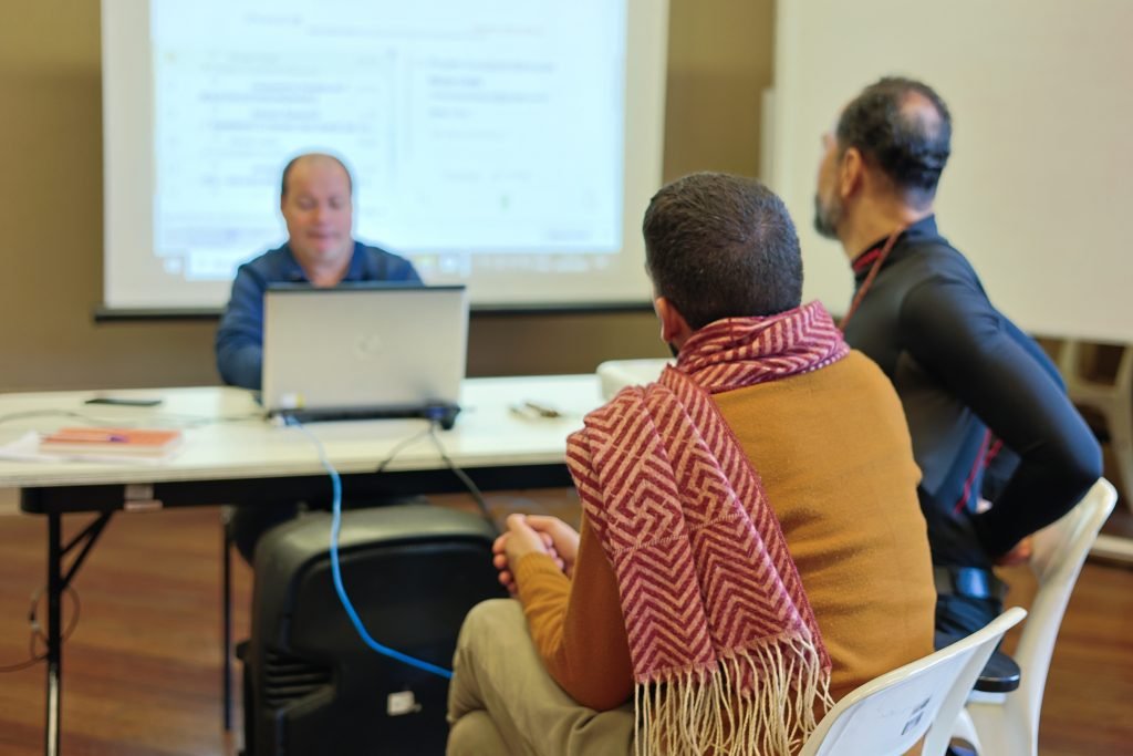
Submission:
<svg viewBox="0 0 1133 756">
<path fill-rule="evenodd" d="M 799 235 L 783 201 L 755 179 L 676 179 L 654 195 L 641 230 L 656 294 L 693 330 L 802 300 Z"/>
</svg>

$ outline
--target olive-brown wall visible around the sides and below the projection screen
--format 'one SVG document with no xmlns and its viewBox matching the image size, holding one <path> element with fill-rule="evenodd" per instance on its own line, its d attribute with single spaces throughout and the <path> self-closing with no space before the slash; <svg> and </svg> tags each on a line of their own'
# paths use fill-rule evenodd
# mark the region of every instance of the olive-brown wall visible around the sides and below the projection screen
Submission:
<svg viewBox="0 0 1133 756">
<path fill-rule="evenodd" d="M 756 175 L 773 0 L 671 0 L 665 178 Z M 0 391 L 218 381 L 213 322 L 94 323 L 102 298 L 99 3 L 0 9 Z M 650 313 L 474 316 L 469 373 L 667 354 Z"/>
</svg>

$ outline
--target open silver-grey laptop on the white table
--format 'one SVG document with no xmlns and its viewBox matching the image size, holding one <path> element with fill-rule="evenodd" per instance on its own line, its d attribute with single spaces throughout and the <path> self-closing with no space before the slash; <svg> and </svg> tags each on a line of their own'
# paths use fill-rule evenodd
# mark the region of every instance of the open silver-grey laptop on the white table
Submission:
<svg viewBox="0 0 1133 756">
<path fill-rule="evenodd" d="M 467 348 L 462 286 L 272 284 L 261 401 L 301 422 L 426 417 L 452 427 Z"/>
</svg>

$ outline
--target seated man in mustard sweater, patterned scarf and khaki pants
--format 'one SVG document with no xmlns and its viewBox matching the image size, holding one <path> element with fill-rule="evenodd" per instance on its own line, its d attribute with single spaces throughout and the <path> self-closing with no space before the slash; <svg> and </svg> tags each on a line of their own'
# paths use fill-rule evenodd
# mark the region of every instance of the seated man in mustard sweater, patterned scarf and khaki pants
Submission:
<svg viewBox="0 0 1133 756">
<path fill-rule="evenodd" d="M 782 202 L 688 176 L 644 232 L 678 363 L 568 442 L 580 533 L 513 515 L 519 601 L 461 631 L 449 753 L 792 754 L 830 703 L 931 652 L 900 402 L 821 305 Z"/>
</svg>

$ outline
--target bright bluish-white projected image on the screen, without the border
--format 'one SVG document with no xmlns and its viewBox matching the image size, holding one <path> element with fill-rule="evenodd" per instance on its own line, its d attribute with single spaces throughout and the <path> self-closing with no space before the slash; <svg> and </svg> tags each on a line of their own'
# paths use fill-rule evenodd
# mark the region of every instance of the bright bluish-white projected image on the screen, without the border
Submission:
<svg viewBox="0 0 1133 756">
<path fill-rule="evenodd" d="M 423 273 L 621 249 L 624 2 L 154 0 L 150 26 L 169 274 L 229 281 L 280 239 L 280 169 L 313 148 L 352 168 L 357 236 Z"/>
</svg>

